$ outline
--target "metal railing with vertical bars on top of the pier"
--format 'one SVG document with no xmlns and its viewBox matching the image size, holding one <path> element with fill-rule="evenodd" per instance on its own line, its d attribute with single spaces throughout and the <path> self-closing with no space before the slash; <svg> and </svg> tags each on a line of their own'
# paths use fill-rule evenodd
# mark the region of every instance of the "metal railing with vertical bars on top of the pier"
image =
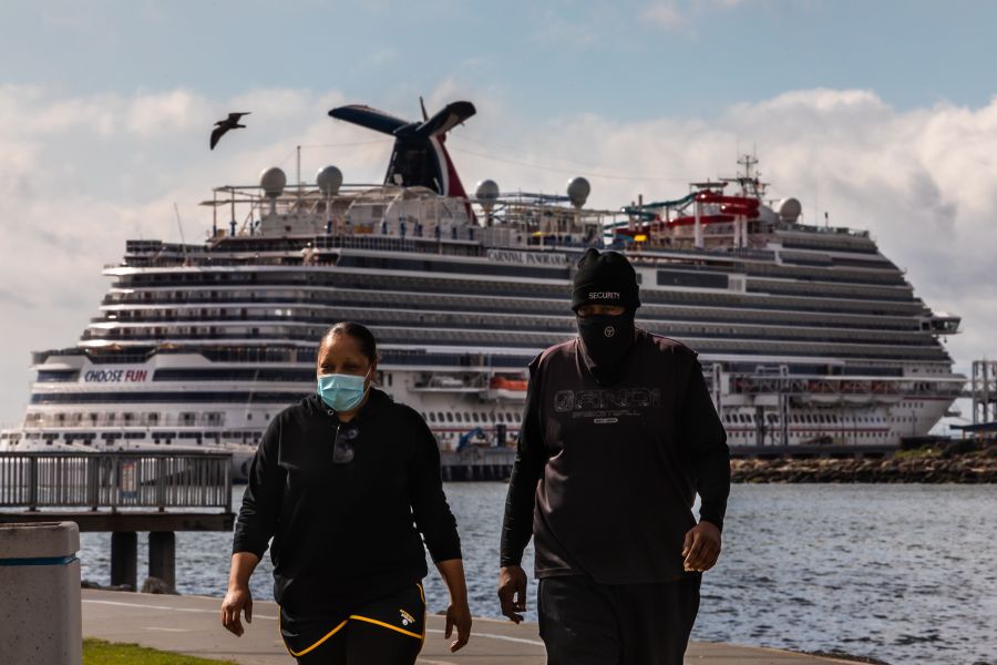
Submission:
<svg viewBox="0 0 997 665">
<path fill-rule="evenodd" d="M 232 512 L 232 456 L 0 452 L 0 507 Z"/>
</svg>

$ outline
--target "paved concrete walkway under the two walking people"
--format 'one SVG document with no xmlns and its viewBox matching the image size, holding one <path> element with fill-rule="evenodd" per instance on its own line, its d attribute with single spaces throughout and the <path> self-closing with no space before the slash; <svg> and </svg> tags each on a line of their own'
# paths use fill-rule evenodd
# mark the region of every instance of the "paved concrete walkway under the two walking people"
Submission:
<svg viewBox="0 0 997 665">
<path fill-rule="evenodd" d="M 254 603 L 253 623 L 236 637 L 222 627 L 219 598 L 168 596 L 83 590 L 83 635 L 110 642 L 205 658 L 225 658 L 243 665 L 294 665 L 277 634 L 277 605 Z M 423 665 L 543 665 L 544 644 L 536 624 L 475 618 L 471 642 L 451 654 L 443 638 L 443 620 L 430 615 Z M 830 665 L 844 663 L 801 654 L 727 644 L 693 643 L 686 654 L 696 665 Z M 854 665 L 854 664 L 852 664 Z"/>
</svg>

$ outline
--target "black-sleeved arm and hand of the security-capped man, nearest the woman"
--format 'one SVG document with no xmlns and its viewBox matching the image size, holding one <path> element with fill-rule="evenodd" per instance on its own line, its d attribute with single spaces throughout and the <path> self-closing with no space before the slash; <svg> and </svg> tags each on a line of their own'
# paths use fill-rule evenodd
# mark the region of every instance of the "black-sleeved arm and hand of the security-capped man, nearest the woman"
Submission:
<svg viewBox="0 0 997 665">
<path fill-rule="evenodd" d="M 505 498 L 505 516 L 502 521 L 500 545 L 498 601 L 502 614 L 520 623 L 517 614 L 526 608 L 526 573 L 521 567 L 523 551 L 533 536 L 533 511 L 536 503 L 536 483 L 547 463 L 539 419 L 539 386 L 536 376 L 538 357 L 530 364 L 530 386 L 526 389 L 526 409 L 520 426 L 516 460 L 513 463 L 508 493 Z"/>
</svg>

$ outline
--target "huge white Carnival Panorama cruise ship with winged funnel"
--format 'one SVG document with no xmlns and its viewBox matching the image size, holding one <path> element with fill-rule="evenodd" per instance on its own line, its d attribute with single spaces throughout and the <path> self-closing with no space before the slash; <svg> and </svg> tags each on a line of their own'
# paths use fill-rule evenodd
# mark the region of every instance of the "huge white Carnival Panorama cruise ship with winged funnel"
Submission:
<svg viewBox="0 0 997 665">
<path fill-rule="evenodd" d="M 340 320 L 374 332 L 378 385 L 441 450 L 508 449 L 527 364 L 576 335 L 571 282 L 588 247 L 633 262 L 639 327 L 700 354 L 731 446 L 896 446 L 963 389 L 943 346 L 959 318 L 922 301 L 866 231 L 802 224 L 799 201 L 767 200 L 753 158 L 617 209 L 586 207 L 582 177 L 565 195 L 493 181 L 469 195 L 444 140 L 473 114 L 333 109 L 395 137 L 383 184 L 343 184 L 335 166 L 288 184 L 268 168 L 214 190 L 205 242 L 129 241 L 80 339 L 33 354 L 27 412 L 0 449 L 220 448 L 245 464 L 274 415 L 314 390 L 317 340 Z"/>
</svg>

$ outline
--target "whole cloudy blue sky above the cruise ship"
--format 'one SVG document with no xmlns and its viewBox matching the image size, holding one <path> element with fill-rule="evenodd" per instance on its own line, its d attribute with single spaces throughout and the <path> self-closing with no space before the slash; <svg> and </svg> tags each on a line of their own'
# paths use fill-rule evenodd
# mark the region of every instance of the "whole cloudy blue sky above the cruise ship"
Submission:
<svg viewBox="0 0 997 665">
<path fill-rule="evenodd" d="M 0 423 L 30 352 L 75 344 L 129 238 L 197 242 L 212 187 L 279 165 L 379 182 L 391 142 L 328 117 L 465 99 L 470 188 L 672 198 L 754 152 L 803 222 L 868 229 L 956 368 L 997 342 L 997 3 L 20 1 L 0 6 Z M 209 151 L 213 123 L 251 111 Z M 966 413 L 968 416 L 968 412 Z"/>
</svg>

